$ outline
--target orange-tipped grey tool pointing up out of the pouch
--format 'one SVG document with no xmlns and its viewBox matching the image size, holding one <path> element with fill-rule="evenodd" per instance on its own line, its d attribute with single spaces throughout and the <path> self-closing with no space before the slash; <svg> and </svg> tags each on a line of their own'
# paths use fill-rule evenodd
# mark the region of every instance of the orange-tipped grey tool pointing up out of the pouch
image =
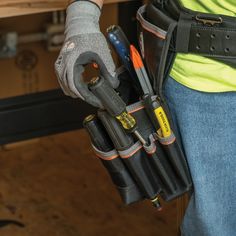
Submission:
<svg viewBox="0 0 236 236">
<path fill-rule="evenodd" d="M 152 85 L 151 85 L 150 80 L 148 78 L 142 58 L 141 58 L 138 50 L 133 45 L 130 45 L 130 57 L 133 62 L 133 66 L 134 66 L 135 72 L 138 76 L 139 83 L 142 87 L 143 93 L 150 94 L 151 96 L 154 95 Z"/>
</svg>

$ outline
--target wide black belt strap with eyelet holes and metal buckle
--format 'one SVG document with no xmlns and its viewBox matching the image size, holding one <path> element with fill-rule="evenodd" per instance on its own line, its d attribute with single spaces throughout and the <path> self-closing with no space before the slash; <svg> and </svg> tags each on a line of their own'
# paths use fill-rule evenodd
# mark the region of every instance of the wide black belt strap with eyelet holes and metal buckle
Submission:
<svg viewBox="0 0 236 236">
<path fill-rule="evenodd" d="M 236 18 L 181 12 L 176 52 L 236 59 Z"/>
</svg>

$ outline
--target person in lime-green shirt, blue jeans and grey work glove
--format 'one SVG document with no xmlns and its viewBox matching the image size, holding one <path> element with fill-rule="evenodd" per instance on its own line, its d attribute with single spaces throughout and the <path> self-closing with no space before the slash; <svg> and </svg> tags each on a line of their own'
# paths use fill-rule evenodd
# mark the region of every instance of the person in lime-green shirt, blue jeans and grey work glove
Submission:
<svg viewBox="0 0 236 236">
<path fill-rule="evenodd" d="M 235 0 L 179 2 L 191 10 L 236 17 Z M 66 40 L 55 64 L 65 94 L 97 106 L 98 101 L 75 80 L 75 65 L 95 60 L 113 87 L 117 86 L 115 66 L 99 29 L 102 4 L 103 0 L 80 0 L 68 6 Z M 183 236 L 235 235 L 235 91 L 235 68 L 193 54 L 177 55 L 165 83 L 164 94 L 181 134 L 194 184 L 181 226 Z"/>
</svg>

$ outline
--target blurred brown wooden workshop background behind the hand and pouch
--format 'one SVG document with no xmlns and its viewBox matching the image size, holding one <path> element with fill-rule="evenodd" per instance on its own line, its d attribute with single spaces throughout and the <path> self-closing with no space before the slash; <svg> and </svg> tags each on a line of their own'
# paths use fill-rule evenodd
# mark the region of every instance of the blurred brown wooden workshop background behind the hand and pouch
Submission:
<svg viewBox="0 0 236 236">
<path fill-rule="evenodd" d="M 82 129 L 94 109 L 59 89 L 66 2 L 0 3 L 0 235 L 176 236 L 187 197 L 124 206 Z M 141 1 L 105 3 L 103 32 L 119 24 L 137 43 Z"/>
</svg>

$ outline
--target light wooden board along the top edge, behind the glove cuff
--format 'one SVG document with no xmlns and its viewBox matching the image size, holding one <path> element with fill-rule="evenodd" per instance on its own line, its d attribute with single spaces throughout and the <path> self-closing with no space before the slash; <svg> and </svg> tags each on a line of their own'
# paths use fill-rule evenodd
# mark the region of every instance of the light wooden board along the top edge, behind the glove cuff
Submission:
<svg viewBox="0 0 236 236">
<path fill-rule="evenodd" d="M 128 0 L 105 0 L 105 4 L 125 1 Z M 1 0 L 0 18 L 63 10 L 68 2 L 69 0 Z"/>
</svg>

